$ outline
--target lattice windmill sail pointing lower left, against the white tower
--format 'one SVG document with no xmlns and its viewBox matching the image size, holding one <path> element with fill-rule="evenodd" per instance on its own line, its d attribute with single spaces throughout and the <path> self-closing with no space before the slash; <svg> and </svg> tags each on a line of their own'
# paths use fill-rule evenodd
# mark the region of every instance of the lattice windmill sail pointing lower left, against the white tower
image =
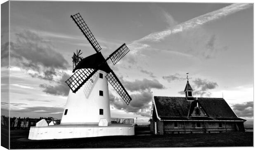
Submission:
<svg viewBox="0 0 256 150">
<path fill-rule="evenodd" d="M 76 93 L 97 71 L 98 69 L 78 69 L 66 83 Z"/>
</svg>

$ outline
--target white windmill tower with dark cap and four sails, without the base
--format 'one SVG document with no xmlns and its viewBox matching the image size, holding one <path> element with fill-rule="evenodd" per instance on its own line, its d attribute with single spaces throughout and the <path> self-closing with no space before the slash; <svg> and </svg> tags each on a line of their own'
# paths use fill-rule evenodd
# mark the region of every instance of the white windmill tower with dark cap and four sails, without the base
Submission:
<svg viewBox="0 0 256 150">
<path fill-rule="evenodd" d="M 81 32 L 88 40 L 88 42 L 91 44 L 92 48 L 96 51 L 96 53 L 86 58 L 80 59 L 79 55 L 81 55 L 81 53 L 79 51 L 77 54 L 74 53 L 74 56 L 72 57 L 74 67 L 73 75 L 66 80 L 66 84 L 69 86 L 72 92 L 69 92 L 69 97 L 65 108 L 66 112 L 64 112 L 62 116 L 62 122 L 72 122 L 74 115 L 77 115 L 78 113 L 83 113 L 82 118 L 84 118 L 84 121 L 82 122 L 85 123 L 96 123 L 97 119 L 100 118 L 107 118 L 108 122 L 111 122 L 107 81 L 112 85 L 112 87 L 116 90 L 116 92 L 121 96 L 121 98 L 127 105 L 130 103 L 132 99 L 126 91 L 126 89 L 121 84 L 121 82 L 119 81 L 119 79 L 117 78 L 116 74 L 107 64 L 107 60 L 111 60 L 113 64 L 116 65 L 116 63 L 119 62 L 119 60 L 121 60 L 121 58 L 123 58 L 130 50 L 126 46 L 126 44 L 122 44 L 113 53 L 111 53 L 109 57 L 107 57 L 107 59 L 105 59 L 102 53 L 100 52 L 102 48 L 95 39 L 94 35 L 92 35 L 92 32 L 88 28 L 88 25 L 85 23 L 80 13 L 71 15 L 71 18 L 76 23 L 76 25 L 81 30 Z M 77 60 L 79 60 L 79 62 Z M 104 80 L 106 79 L 106 81 L 98 80 L 99 78 L 103 78 L 103 74 Z M 103 87 L 104 90 L 102 90 Z M 103 96 L 104 100 L 100 100 L 98 102 L 98 99 L 102 98 L 98 97 L 99 95 Z M 79 108 L 82 106 L 83 108 Z M 85 113 L 88 113 L 84 111 L 85 108 L 100 109 L 100 114 L 97 113 L 99 111 L 95 112 L 96 119 L 94 118 L 90 120 L 86 118 L 84 115 Z M 83 109 L 83 111 L 78 111 L 79 109 Z M 73 114 L 71 113 L 71 110 Z M 103 110 L 104 113 L 101 112 Z"/>
</svg>

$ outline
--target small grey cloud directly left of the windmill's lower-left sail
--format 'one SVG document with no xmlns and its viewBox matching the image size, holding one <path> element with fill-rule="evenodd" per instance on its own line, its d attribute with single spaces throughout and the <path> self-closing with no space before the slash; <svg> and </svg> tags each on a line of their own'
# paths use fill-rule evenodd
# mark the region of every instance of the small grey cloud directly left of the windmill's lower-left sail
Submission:
<svg viewBox="0 0 256 150">
<path fill-rule="evenodd" d="M 57 85 L 40 84 L 39 87 L 43 88 L 43 92 L 51 95 L 67 96 L 69 94 L 69 86 L 65 81 L 69 78 L 69 75 L 64 73 L 62 78 L 57 82 Z"/>
</svg>

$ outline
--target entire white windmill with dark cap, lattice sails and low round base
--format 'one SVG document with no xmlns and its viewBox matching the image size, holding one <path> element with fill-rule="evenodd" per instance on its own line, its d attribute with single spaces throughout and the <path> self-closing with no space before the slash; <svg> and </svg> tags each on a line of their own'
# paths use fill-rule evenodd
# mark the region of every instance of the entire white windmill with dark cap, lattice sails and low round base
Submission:
<svg viewBox="0 0 256 150">
<path fill-rule="evenodd" d="M 113 135 L 134 135 L 134 124 L 111 124 L 108 81 L 128 105 L 132 100 L 113 70 L 115 65 L 130 50 L 121 45 L 105 59 L 101 47 L 81 15 L 71 15 L 96 53 L 81 58 L 80 51 L 73 55 L 73 75 L 66 81 L 70 88 L 60 125 L 32 127 L 29 139 L 79 138 Z M 41 120 L 42 121 L 42 120 Z M 43 121 L 42 121 L 43 122 Z M 58 132 L 57 132 L 58 131 Z"/>
</svg>

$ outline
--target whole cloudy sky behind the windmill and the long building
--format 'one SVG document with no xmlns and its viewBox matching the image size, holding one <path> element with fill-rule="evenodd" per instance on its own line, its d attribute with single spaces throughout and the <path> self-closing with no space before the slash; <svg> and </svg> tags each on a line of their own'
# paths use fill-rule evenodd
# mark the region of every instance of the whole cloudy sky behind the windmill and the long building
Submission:
<svg viewBox="0 0 256 150">
<path fill-rule="evenodd" d="M 61 119 L 73 52 L 95 53 L 70 18 L 78 12 L 105 58 L 123 43 L 130 49 L 116 65 L 108 62 L 133 99 L 127 106 L 109 87 L 112 118 L 149 124 L 152 96 L 184 97 L 189 73 L 195 97 L 224 97 L 252 124 L 253 5 L 238 3 L 11 1 L 11 117 Z M 6 42 L 1 39 L 2 89 Z M 2 108 L 7 103 L 2 99 Z"/>
</svg>

